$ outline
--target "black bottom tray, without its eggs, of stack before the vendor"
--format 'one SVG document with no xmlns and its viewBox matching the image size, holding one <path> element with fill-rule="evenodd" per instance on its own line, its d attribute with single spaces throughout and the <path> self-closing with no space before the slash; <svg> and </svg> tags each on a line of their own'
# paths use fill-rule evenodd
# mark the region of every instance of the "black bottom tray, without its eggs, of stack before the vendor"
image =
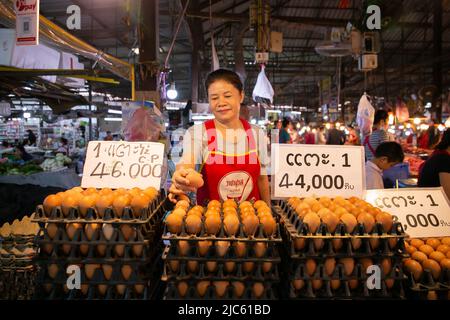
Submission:
<svg viewBox="0 0 450 320">
<path fill-rule="evenodd" d="M 277 285 L 270 282 L 263 283 L 264 291 L 260 297 L 256 297 L 252 289 L 253 284 L 260 281 L 244 281 L 245 288 L 242 296 L 236 295 L 232 284 L 227 285 L 223 296 L 217 295 L 213 284 L 210 284 L 205 294 L 200 296 L 196 289 L 198 281 L 189 280 L 185 282 L 188 283 L 188 289 L 186 294 L 181 296 L 177 288 L 178 282 L 169 281 L 166 292 L 164 293 L 164 300 L 277 300 L 279 296 Z"/>
</svg>

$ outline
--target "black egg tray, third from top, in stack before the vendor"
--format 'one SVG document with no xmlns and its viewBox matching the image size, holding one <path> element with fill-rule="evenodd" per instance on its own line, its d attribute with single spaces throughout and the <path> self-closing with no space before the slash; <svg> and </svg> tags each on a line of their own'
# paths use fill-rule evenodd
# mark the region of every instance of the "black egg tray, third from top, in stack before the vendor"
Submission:
<svg viewBox="0 0 450 320">
<path fill-rule="evenodd" d="M 237 263 L 234 271 L 226 272 L 224 264 L 218 264 L 217 270 L 215 272 L 209 272 L 206 268 L 205 263 L 199 263 L 197 272 L 190 272 L 187 261 L 182 261 L 179 264 L 178 270 L 174 271 L 167 263 L 164 266 L 164 273 L 162 276 L 163 281 L 173 281 L 173 280 L 228 280 L 228 281 L 272 281 L 279 282 L 280 275 L 278 273 L 277 265 L 272 265 L 269 272 L 264 272 L 262 267 L 262 262 L 255 263 L 253 270 L 251 272 L 245 272 L 242 263 Z"/>
</svg>

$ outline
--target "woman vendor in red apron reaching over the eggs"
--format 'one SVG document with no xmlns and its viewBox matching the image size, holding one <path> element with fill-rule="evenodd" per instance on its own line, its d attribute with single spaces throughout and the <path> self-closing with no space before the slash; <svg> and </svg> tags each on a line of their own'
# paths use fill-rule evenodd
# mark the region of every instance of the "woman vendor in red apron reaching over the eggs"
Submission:
<svg viewBox="0 0 450 320">
<path fill-rule="evenodd" d="M 239 76 L 230 70 L 216 70 L 208 75 L 206 89 L 215 118 L 188 129 L 169 199 L 176 202 L 178 196 L 196 192 L 200 205 L 227 199 L 270 204 L 265 134 L 239 118 L 244 100 Z M 192 170 L 202 174 L 203 183 L 197 188 L 187 179 Z"/>
</svg>

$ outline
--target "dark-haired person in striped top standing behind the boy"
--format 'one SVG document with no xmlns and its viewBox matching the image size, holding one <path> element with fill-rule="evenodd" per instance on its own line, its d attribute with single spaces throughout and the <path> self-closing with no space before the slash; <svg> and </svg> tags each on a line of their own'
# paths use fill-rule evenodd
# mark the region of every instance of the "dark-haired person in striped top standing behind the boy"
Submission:
<svg viewBox="0 0 450 320">
<path fill-rule="evenodd" d="M 383 142 L 389 141 L 387 129 L 389 126 L 389 114 L 386 110 L 377 110 L 373 123 L 372 134 L 365 136 L 363 146 L 366 153 L 366 161 L 375 158 L 375 150 Z"/>
</svg>

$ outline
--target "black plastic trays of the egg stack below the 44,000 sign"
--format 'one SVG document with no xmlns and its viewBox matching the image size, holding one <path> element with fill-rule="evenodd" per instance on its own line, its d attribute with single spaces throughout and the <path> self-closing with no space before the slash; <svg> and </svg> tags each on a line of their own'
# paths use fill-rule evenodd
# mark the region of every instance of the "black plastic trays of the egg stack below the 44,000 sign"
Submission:
<svg viewBox="0 0 450 320">
<path fill-rule="evenodd" d="M 394 223 L 389 233 L 385 233 L 383 226 L 377 223 L 374 226 L 371 234 L 367 234 L 362 224 L 358 224 L 352 234 L 347 234 L 345 226 L 338 224 L 334 234 L 330 234 L 325 224 L 321 224 L 315 235 L 311 235 L 308 230 L 308 225 L 304 224 L 298 218 L 295 211 L 285 201 L 273 207 L 274 211 L 280 216 L 280 224 L 282 225 L 282 236 L 284 240 L 283 261 L 286 262 L 284 270 L 287 275 L 289 295 L 288 298 L 317 298 L 323 297 L 327 299 L 333 298 L 404 298 L 404 280 L 406 278 L 402 271 L 402 260 L 408 257 L 405 249 L 404 239 L 406 234 L 400 223 Z M 304 239 L 305 245 L 301 250 L 295 248 L 295 240 Z M 335 250 L 333 241 L 337 239 L 342 240 L 342 247 Z M 360 239 L 361 245 L 357 250 L 353 249 L 352 239 Z M 320 250 L 316 250 L 314 241 L 323 241 L 323 246 Z M 378 242 L 378 246 L 373 249 L 371 242 Z M 349 277 L 343 277 L 344 273 L 336 267 L 336 272 L 331 277 L 328 277 L 320 268 L 324 262 L 324 258 L 370 258 L 376 264 L 376 261 L 382 258 L 390 258 L 392 262 L 392 271 L 385 276 L 382 274 L 382 288 L 381 290 L 368 290 L 367 286 L 358 285 L 356 289 L 350 289 L 349 281 L 358 280 L 365 283 L 367 275 L 362 272 L 362 266 L 355 269 Z M 314 259 L 319 266 L 314 277 L 308 277 L 305 272 L 299 273 L 299 268 L 304 268 L 304 263 L 307 259 Z M 341 266 L 342 267 L 342 266 Z M 334 278 L 333 278 L 334 276 Z M 384 280 L 394 280 L 394 285 L 391 288 L 385 286 Z M 295 290 L 292 286 L 292 280 L 307 280 L 304 288 Z M 319 290 L 313 290 L 313 280 L 326 280 L 324 285 Z M 331 289 L 331 280 L 344 280 L 344 286 L 339 287 L 336 292 Z"/>
</svg>

